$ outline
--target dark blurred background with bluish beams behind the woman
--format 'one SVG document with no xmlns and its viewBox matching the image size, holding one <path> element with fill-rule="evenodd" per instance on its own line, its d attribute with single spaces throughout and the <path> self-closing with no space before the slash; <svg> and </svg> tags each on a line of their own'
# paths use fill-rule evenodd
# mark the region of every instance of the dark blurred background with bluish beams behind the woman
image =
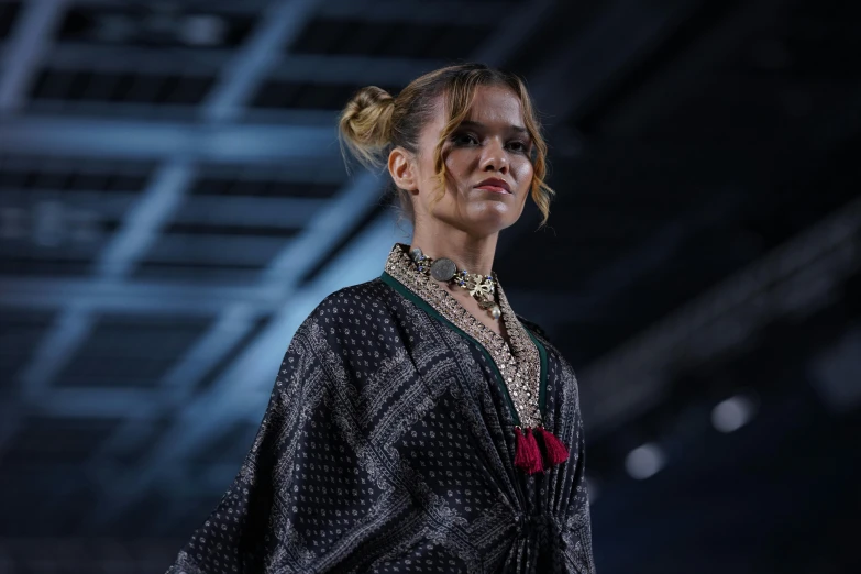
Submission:
<svg viewBox="0 0 861 574">
<path fill-rule="evenodd" d="M 858 14 L 0 1 L 0 572 L 164 571 L 405 239 L 338 111 L 464 60 L 551 145 L 495 267 L 578 374 L 598 572 L 861 572 Z"/>
</svg>

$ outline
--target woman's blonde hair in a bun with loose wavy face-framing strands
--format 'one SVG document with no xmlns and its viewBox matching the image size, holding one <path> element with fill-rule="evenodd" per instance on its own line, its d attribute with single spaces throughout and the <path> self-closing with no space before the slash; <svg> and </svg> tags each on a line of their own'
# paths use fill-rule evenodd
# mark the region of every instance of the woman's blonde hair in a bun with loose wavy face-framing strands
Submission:
<svg viewBox="0 0 861 574">
<path fill-rule="evenodd" d="M 550 216 L 551 197 L 555 194 L 544 181 L 547 143 L 526 85 L 514 74 L 483 64 L 461 64 L 416 78 L 397 97 L 376 86 L 362 88 L 341 112 L 339 131 L 342 151 L 345 144 L 356 159 L 368 167 L 385 165 L 389 151 L 395 146 L 418 153 L 419 133 L 433 118 L 437 98 L 442 96 L 448 119 L 433 150 L 437 177 L 442 189 L 437 198 L 439 201 L 445 192 L 444 183 L 448 176 L 442 156 L 443 145 L 466 119 L 479 86 L 507 86 L 520 99 L 523 124 L 532 140 L 531 196 L 543 216 L 543 225 Z M 412 220 L 409 194 L 404 189 L 397 191 L 401 208 Z"/>
</svg>

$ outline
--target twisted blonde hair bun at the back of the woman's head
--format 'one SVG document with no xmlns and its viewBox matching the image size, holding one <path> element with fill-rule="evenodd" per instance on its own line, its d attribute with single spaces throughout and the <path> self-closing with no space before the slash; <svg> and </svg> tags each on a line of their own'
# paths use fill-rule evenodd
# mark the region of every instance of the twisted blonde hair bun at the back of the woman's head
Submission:
<svg viewBox="0 0 861 574">
<path fill-rule="evenodd" d="M 391 142 L 395 98 L 376 86 L 360 89 L 346 103 L 338 122 L 341 141 L 363 164 L 378 166 Z"/>
</svg>

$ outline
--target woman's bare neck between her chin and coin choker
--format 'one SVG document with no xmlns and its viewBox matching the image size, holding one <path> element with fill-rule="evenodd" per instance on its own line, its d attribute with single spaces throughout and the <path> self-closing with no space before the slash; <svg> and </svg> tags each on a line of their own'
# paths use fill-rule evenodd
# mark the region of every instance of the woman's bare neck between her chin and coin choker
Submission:
<svg viewBox="0 0 861 574">
<path fill-rule="evenodd" d="M 470 273 L 489 275 L 494 266 L 498 238 L 499 233 L 475 238 L 453 228 L 428 230 L 417 227 L 410 249 L 419 247 L 424 255 L 434 260 L 448 257 L 457 265 L 457 268 Z"/>
</svg>

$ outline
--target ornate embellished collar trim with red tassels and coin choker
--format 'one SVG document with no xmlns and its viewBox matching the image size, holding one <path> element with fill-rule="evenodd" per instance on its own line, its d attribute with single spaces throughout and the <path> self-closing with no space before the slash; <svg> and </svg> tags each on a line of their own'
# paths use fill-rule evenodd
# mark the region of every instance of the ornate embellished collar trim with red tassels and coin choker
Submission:
<svg viewBox="0 0 861 574">
<path fill-rule="evenodd" d="M 433 260 L 424 255 L 419 247 L 409 250 L 407 254 L 407 245 L 395 244 L 386 262 L 386 272 L 478 341 L 499 369 L 503 384 L 508 389 L 518 418 L 523 424 L 522 428 L 517 424 L 514 428 L 515 466 L 527 474 L 534 474 L 566 461 L 567 449 L 543 426 L 539 406 L 541 362 L 538 349 L 514 314 L 495 275 L 468 273 L 459 269 L 448 257 Z M 482 324 L 437 282 L 467 289 L 494 319 L 499 319 L 505 313 L 505 325 L 512 344 L 509 345 L 501 336 Z M 497 291 L 501 307 L 496 302 Z"/>
</svg>

